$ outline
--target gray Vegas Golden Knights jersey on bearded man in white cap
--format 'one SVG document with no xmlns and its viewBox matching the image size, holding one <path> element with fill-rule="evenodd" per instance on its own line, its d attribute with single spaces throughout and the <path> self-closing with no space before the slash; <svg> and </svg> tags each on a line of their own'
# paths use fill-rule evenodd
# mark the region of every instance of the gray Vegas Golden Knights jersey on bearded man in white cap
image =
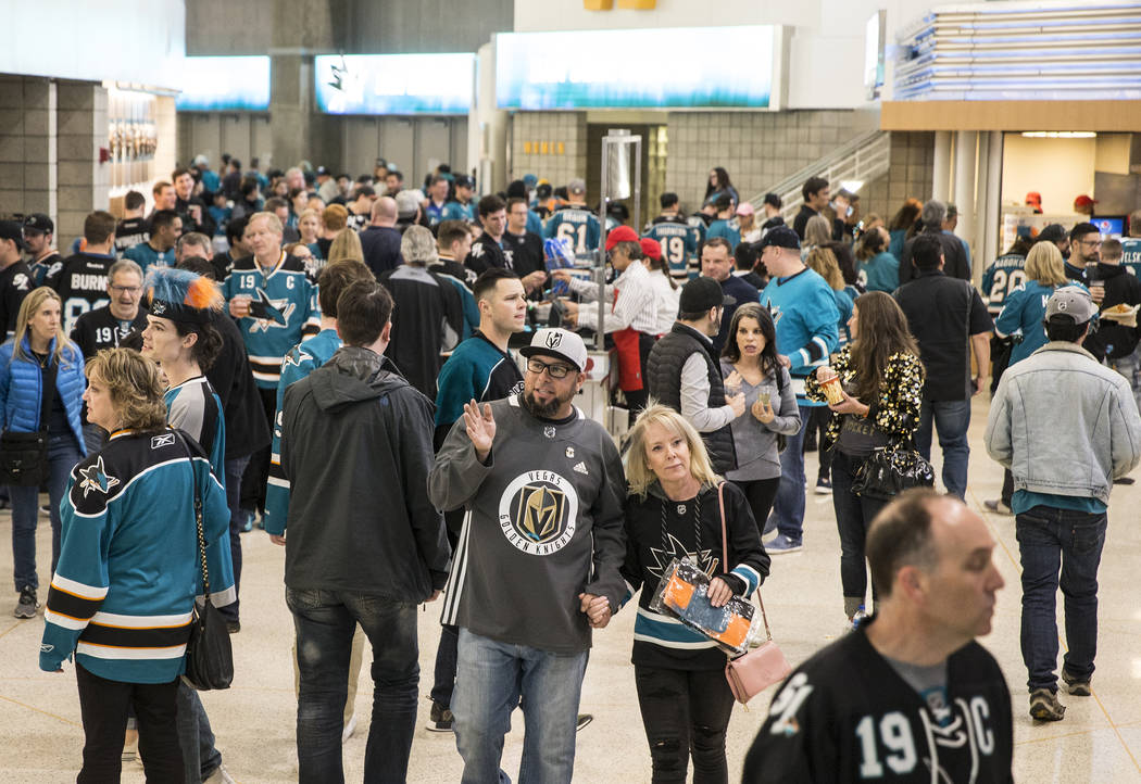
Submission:
<svg viewBox="0 0 1141 784">
<path fill-rule="evenodd" d="M 518 395 L 493 403 L 487 465 L 460 418 L 436 455 L 428 496 L 467 513 L 442 621 L 555 653 L 590 647 L 580 593 L 625 593 L 625 475 L 614 441 L 575 409 L 569 423 L 534 417 Z"/>
</svg>

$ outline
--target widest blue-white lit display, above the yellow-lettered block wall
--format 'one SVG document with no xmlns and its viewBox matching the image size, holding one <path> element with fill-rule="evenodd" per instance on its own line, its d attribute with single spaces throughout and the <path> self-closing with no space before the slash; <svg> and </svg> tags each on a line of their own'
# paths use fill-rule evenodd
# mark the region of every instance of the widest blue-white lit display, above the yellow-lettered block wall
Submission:
<svg viewBox="0 0 1141 784">
<path fill-rule="evenodd" d="M 777 31 L 745 25 L 500 33 L 496 104 L 505 109 L 770 108 Z M 733 65 L 729 52 L 741 51 L 748 59 Z"/>
</svg>

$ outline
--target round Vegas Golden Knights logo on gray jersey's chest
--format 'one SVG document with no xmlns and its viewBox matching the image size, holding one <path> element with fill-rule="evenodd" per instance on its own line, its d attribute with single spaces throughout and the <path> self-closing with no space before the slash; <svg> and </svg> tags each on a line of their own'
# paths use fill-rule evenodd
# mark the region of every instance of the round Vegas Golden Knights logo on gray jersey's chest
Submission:
<svg viewBox="0 0 1141 784">
<path fill-rule="evenodd" d="M 578 496 L 574 484 L 553 471 L 528 471 L 500 497 L 500 530 L 529 555 L 550 555 L 574 538 Z"/>
</svg>

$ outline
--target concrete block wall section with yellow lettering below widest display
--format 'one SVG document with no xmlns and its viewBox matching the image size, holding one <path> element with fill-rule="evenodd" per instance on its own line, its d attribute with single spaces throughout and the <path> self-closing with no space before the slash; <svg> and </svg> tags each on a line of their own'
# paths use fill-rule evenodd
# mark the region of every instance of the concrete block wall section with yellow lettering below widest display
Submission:
<svg viewBox="0 0 1141 784">
<path fill-rule="evenodd" d="M 563 145 L 561 154 L 558 153 L 559 144 Z M 586 178 L 585 112 L 519 112 L 512 116 L 508 179 L 523 179 L 524 174 L 547 178 L 555 187 L 576 177 Z M 586 198 L 588 202 L 597 199 L 598 195 L 588 194 Z"/>
</svg>

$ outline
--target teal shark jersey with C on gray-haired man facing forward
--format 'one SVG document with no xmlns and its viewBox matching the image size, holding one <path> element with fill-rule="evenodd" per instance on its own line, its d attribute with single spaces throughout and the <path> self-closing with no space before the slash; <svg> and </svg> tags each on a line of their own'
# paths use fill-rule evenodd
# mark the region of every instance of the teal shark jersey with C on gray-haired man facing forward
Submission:
<svg viewBox="0 0 1141 784">
<path fill-rule="evenodd" d="M 253 381 L 264 390 L 276 390 L 285 354 L 321 329 L 317 287 L 306 275 L 305 263 L 284 251 L 269 270 L 258 267 L 253 256 L 238 259 L 222 284 L 222 294 L 226 300 L 238 294 L 252 297 L 251 315 L 238 321 L 242 341 Z"/>
</svg>

